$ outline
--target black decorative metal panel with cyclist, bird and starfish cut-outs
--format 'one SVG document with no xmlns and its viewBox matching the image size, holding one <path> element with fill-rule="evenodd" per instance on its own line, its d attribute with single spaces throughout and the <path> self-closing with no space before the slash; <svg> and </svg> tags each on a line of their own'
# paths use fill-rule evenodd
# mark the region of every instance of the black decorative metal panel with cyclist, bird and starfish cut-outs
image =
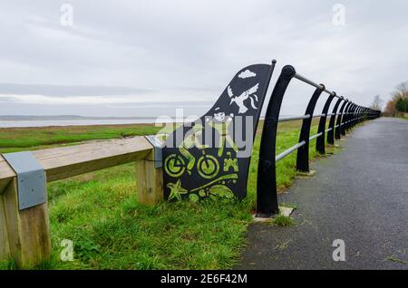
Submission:
<svg viewBox="0 0 408 288">
<path fill-rule="evenodd" d="M 170 135 L 162 152 L 166 199 L 247 196 L 252 145 L 275 63 L 239 71 L 204 116 Z"/>
</svg>

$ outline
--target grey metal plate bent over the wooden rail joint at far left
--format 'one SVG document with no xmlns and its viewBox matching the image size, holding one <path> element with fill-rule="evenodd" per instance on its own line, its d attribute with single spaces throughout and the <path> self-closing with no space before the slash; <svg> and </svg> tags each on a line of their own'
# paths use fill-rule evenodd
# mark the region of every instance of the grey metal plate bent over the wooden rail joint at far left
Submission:
<svg viewBox="0 0 408 288">
<path fill-rule="evenodd" d="M 3 154 L 17 174 L 18 208 L 24 210 L 46 202 L 44 168 L 32 152 Z"/>
</svg>

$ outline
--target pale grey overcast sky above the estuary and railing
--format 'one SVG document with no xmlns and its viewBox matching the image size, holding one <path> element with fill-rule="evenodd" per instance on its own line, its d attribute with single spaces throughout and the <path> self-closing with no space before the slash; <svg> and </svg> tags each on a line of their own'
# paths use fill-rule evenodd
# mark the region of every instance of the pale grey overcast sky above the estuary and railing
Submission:
<svg viewBox="0 0 408 288">
<path fill-rule="evenodd" d="M 0 115 L 199 115 L 274 58 L 271 86 L 292 64 L 356 103 L 386 101 L 408 80 L 407 14 L 405 0 L 0 0 Z M 294 82 L 282 114 L 312 91 Z"/>
</svg>

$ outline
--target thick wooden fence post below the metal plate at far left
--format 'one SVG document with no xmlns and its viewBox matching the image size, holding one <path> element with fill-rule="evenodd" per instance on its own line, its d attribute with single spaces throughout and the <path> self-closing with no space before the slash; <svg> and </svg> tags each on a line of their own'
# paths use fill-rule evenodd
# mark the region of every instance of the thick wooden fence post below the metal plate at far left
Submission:
<svg viewBox="0 0 408 288">
<path fill-rule="evenodd" d="M 13 259 L 18 268 L 33 268 L 51 255 L 47 203 L 18 208 L 17 178 L 0 191 L 0 260 Z"/>
</svg>

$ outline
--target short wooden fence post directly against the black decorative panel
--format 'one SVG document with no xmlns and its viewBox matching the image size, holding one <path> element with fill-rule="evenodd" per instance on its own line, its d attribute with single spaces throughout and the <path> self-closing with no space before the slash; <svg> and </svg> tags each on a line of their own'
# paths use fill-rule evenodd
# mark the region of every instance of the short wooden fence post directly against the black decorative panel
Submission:
<svg viewBox="0 0 408 288">
<path fill-rule="evenodd" d="M 154 149 L 149 155 L 136 161 L 138 201 L 156 205 L 163 199 L 163 170 L 154 167 Z"/>
</svg>

